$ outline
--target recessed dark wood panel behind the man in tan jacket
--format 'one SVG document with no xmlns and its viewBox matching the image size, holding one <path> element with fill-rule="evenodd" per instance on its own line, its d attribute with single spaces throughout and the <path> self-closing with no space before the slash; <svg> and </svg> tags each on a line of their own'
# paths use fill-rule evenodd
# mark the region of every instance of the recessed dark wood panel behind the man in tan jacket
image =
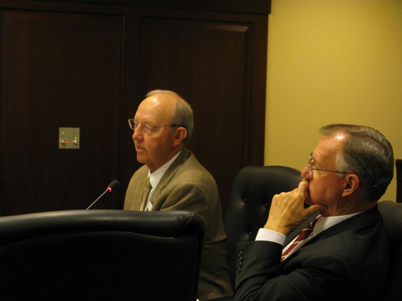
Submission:
<svg viewBox="0 0 402 301">
<path fill-rule="evenodd" d="M 189 149 L 214 176 L 225 202 L 247 164 L 249 24 L 143 18 L 141 41 L 140 91 L 172 89 L 190 102 L 195 129 Z"/>
</svg>

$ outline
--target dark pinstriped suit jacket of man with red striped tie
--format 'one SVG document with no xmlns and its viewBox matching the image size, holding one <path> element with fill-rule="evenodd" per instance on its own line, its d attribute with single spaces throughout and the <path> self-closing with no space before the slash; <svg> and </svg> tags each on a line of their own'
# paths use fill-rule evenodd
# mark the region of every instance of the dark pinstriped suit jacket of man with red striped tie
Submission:
<svg viewBox="0 0 402 301">
<path fill-rule="evenodd" d="M 377 206 L 324 230 L 280 262 L 282 248 L 265 241 L 238 245 L 235 301 L 379 300 L 388 244 Z"/>
</svg>

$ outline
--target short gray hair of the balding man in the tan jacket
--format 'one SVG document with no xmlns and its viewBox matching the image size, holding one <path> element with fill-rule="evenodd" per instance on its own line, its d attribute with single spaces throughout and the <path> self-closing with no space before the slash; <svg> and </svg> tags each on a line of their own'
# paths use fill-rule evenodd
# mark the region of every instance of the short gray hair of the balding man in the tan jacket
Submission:
<svg viewBox="0 0 402 301">
<path fill-rule="evenodd" d="M 146 97 L 150 97 L 155 94 L 170 94 L 176 96 L 176 107 L 173 113 L 172 124 L 184 127 L 187 130 L 187 136 L 184 139 L 184 144 L 188 145 L 190 143 L 191 134 L 194 128 L 194 113 L 191 105 L 184 100 L 176 92 L 169 90 L 152 90 L 146 94 Z"/>
</svg>

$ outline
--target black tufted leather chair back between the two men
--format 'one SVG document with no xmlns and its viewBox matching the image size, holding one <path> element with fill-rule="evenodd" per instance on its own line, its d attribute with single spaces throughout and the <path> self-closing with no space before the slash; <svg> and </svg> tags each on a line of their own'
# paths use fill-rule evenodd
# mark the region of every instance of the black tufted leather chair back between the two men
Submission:
<svg viewBox="0 0 402 301">
<path fill-rule="evenodd" d="M 286 166 L 246 166 L 236 175 L 223 217 L 233 288 L 237 244 L 254 240 L 267 222 L 272 197 L 295 189 L 301 180 L 298 170 Z"/>
</svg>

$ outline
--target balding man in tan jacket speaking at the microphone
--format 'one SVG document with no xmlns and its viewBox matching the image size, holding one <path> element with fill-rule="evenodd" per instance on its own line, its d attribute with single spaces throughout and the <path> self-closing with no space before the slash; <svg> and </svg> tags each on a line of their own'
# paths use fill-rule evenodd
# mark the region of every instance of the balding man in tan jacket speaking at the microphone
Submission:
<svg viewBox="0 0 402 301">
<path fill-rule="evenodd" d="M 137 160 L 144 165 L 130 180 L 124 209 L 188 210 L 201 215 L 205 236 L 198 299 L 231 296 L 218 189 L 186 148 L 193 130 L 190 105 L 174 92 L 151 91 L 129 124 Z"/>
</svg>

